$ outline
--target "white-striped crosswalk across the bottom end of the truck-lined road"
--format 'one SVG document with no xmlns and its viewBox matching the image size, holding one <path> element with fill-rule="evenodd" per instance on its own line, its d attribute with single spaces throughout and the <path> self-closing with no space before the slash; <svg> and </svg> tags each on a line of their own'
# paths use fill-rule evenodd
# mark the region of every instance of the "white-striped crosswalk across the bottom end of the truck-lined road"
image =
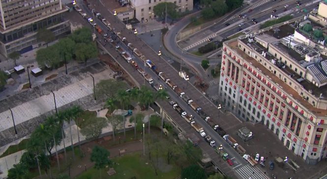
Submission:
<svg viewBox="0 0 327 179">
<path fill-rule="evenodd" d="M 241 179 L 269 179 L 257 166 L 244 165 L 236 170 Z"/>
</svg>

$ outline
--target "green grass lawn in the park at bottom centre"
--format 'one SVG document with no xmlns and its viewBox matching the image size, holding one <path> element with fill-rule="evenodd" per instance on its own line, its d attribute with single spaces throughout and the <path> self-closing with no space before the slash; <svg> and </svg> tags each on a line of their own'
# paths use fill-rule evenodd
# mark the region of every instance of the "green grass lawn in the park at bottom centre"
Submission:
<svg viewBox="0 0 327 179">
<path fill-rule="evenodd" d="M 121 157 L 113 158 L 113 165 L 116 174 L 109 177 L 106 173 L 109 169 L 103 169 L 101 171 L 102 179 L 131 179 L 136 177 L 136 179 L 176 179 L 180 175 L 180 168 L 178 166 L 173 166 L 172 170 L 169 172 L 161 172 L 158 170 L 158 176 L 155 175 L 153 167 L 150 163 L 147 164 L 147 160 L 142 157 L 142 153 L 131 153 L 126 154 Z M 86 173 L 78 176 L 76 179 L 100 179 L 99 171 L 92 168 Z"/>
</svg>

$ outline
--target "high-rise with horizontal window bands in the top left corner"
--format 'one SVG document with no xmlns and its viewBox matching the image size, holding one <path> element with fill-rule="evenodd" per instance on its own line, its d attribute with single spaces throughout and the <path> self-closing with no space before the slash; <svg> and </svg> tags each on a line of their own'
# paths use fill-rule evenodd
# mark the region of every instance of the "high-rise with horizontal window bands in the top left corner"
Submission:
<svg viewBox="0 0 327 179">
<path fill-rule="evenodd" d="M 40 28 L 52 30 L 56 36 L 70 31 L 67 11 L 61 0 L 1 0 L 0 53 L 29 51 L 38 47 L 36 34 Z"/>
</svg>

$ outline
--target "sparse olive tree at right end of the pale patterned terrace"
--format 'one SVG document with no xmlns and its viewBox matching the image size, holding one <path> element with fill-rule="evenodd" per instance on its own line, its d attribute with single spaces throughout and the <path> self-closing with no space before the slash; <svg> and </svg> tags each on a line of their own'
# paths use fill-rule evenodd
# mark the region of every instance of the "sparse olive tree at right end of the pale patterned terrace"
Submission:
<svg viewBox="0 0 327 179">
<path fill-rule="evenodd" d="M 100 98 L 115 98 L 120 89 L 126 89 L 126 83 L 115 79 L 103 79 L 95 85 L 95 92 Z"/>
</svg>

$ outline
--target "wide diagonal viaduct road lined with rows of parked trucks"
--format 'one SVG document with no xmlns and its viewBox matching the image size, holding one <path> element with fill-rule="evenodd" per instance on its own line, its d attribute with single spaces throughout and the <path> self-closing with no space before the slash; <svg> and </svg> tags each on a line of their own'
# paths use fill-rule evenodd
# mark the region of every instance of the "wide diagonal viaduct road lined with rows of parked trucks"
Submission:
<svg viewBox="0 0 327 179">
<path fill-rule="evenodd" d="M 84 5 L 81 4 L 81 7 L 84 9 L 85 12 L 89 15 L 89 17 L 92 17 L 91 11 Z M 113 16 L 110 12 L 107 11 L 107 9 L 103 6 L 97 6 L 97 11 L 99 11 L 102 16 L 104 16 L 110 23 L 113 28 L 117 32 L 120 32 L 126 39 L 133 43 L 135 47 L 138 47 L 138 49 L 144 54 L 147 59 L 151 59 L 157 66 L 157 68 L 164 72 L 167 77 L 169 77 L 175 84 L 178 85 L 181 89 L 183 89 L 183 92 L 185 92 L 193 101 L 195 101 L 198 105 L 200 105 L 203 110 L 210 115 L 210 117 L 217 122 L 222 128 L 229 128 L 233 125 L 237 125 L 239 122 L 234 116 L 225 116 L 225 114 L 220 113 L 220 118 L 218 118 L 218 109 L 217 107 L 210 102 L 199 90 L 197 90 L 192 84 L 186 85 L 186 81 L 184 81 L 182 78 L 178 77 L 178 72 L 164 59 L 159 59 L 157 52 L 152 51 L 142 40 L 140 40 L 138 37 L 132 33 L 132 31 L 127 30 L 125 26 L 116 19 L 115 16 Z M 107 29 L 106 26 L 104 26 L 100 21 L 95 19 L 95 22 L 103 29 Z M 108 30 L 108 29 L 107 29 Z M 105 30 L 105 31 L 107 31 Z M 98 41 L 101 40 L 103 42 L 103 38 L 101 35 L 98 35 Z M 109 33 L 109 35 L 113 35 L 112 32 Z M 100 45 L 100 44 L 99 44 Z M 131 51 L 128 50 L 128 48 L 123 44 L 119 43 L 120 47 L 123 48 L 125 51 L 132 54 Z M 102 46 L 102 45 L 100 45 Z M 128 64 L 125 60 L 123 60 L 119 53 L 115 51 L 115 48 L 112 47 L 110 44 L 104 45 L 102 47 L 105 51 L 107 51 L 118 63 L 119 65 L 135 80 L 138 84 L 143 84 L 144 79 L 143 77 L 135 71 L 130 64 Z M 206 133 L 208 135 L 211 135 L 212 138 L 216 141 L 216 143 L 222 144 L 224 151 L 229 153 L 230 158 L 234 162 L 234 166 L 230 167 L 227 165 L 226 162 L 224 162 L 221 157 L 214 151 L 212 147 L 208 145 L 208 143 L 203 142 L 200 143 L 200 148 L 210 155 L 212 158 L 212 161 L 221 169 L 224 173 L 231 176 L 232 178 L 241 178 L 241 179 L 248 179 L 251 177 L 252 179 L 268 179 L 268 177 L 257 167 L 249 167 L 249 164 L 242 159 L 242 156 L 240 156 L 232 147 L 230 147 L 204 120 L 202 120 L 196 113 L 193 111 L 185 102 L 183 102 L 178 95 L 169 88 L 169 86 L 166 85 L 165 82 L 159 79 L 159 77 L 149 70 L 147 67 L 143 67 L 143 61 L 139 58 L 134 57 L 134 60 L 139 64 L 140 68 L 144 68 L 147 74 L 149 74 L 155 83 L 162 84 L 165 88 L 167 88 L 168 93 L 171 96 L 171 99 L 175 102 L 178 102 L 178 104 L 188 113 L 192 114 L 196 117 L 195 121 L 204 127 Z M 147 84 L 148 85 L 148 84 Z M 169 105 L 166 101 L 160 101 L 158 102 L 160 104 L 160 107 L 163 108 L 164 111 L 166 111 L 169 116 L 174 119 L 174 122 L 180 128 L 181 131 L 185 133 L 195 133 L 195 130 L 190 127 L 190 125 L 181 118 L 181 116 Z M 199 134 L 197 134 L 200 137 Z"/>
</svg>

